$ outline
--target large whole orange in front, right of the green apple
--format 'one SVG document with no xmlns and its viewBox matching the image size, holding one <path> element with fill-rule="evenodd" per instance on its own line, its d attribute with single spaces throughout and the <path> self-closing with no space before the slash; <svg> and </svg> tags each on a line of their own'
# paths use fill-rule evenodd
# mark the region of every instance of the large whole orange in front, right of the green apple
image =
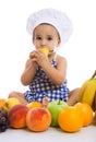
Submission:
<svg viewBox="0 0 96 142">
<path fill-rule="evenodd" d="M 58 117 L 60 128 L 65 132 L 76 132 L 83 126 L 83 119 L 75 107 L 67 107 Z"/>
</svg>

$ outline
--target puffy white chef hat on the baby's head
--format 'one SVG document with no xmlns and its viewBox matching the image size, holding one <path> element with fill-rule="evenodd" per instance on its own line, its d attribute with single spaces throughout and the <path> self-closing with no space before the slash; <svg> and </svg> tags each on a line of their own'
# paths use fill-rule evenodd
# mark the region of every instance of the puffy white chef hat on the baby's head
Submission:
<svg viewBox="0 0 96 142">
<path fill-rule="evenodd" d="M 29 15 L 26 29 L 33 36 L 33 32 L 39 24 L 47 23 L 56 27 L 60 35 L 61 45 L 63 45 L 71 36 L 73 26 L 65 13 L 48 8 L 39 10 Z"/>
</svg>

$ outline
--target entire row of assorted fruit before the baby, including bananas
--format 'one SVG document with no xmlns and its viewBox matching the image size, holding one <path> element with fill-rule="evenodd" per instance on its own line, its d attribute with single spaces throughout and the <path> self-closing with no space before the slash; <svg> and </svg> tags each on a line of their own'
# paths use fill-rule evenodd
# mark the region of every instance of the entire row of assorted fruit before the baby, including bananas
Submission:
<svg viewBox="0 0 96 142">
<path fill-rule="evenodd" d="M 65 132 L 77 132 L 96 120 L 96 71 L 81 87 L 80 102 L 69 106 L 63 100 L 52 100 L 47 106 L 39 102 L 22 105 L 17 98 L 0 98 L 0 132 L 8 128 L 41 132 L 49 127 Z"/>
</svg>

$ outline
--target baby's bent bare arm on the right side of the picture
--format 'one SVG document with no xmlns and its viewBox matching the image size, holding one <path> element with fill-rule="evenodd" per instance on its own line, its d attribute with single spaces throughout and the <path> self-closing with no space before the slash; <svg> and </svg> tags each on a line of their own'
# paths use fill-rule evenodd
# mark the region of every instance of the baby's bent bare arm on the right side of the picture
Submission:
<svg viewBox="0 0 96 142">
<path fill-rule="evenodd" d="M 61 85 L 65 81 L 67 60 L 60 56 L 57 57 L 57 69 L 51 67 L 50 62 L 43 67 L 49 79 L 57 85 Z"/>
</svg>

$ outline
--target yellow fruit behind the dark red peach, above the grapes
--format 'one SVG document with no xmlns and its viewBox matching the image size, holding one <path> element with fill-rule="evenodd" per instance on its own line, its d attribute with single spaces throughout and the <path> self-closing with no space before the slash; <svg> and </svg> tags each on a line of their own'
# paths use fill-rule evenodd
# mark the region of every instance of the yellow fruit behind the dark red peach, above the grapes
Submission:
<svg viewBox="0 0 96 142">
<path fill-rule="evenodd" d="M 13 107 L 14 105 L 19 105 L 21 104 L 21 102 L 15 98 L 15 97 L 10 97 L 7 99 L 5 104 L 3 105 L 3 109 L 5 111 L 8 111 L 11 107 Z"/>
</svg>

